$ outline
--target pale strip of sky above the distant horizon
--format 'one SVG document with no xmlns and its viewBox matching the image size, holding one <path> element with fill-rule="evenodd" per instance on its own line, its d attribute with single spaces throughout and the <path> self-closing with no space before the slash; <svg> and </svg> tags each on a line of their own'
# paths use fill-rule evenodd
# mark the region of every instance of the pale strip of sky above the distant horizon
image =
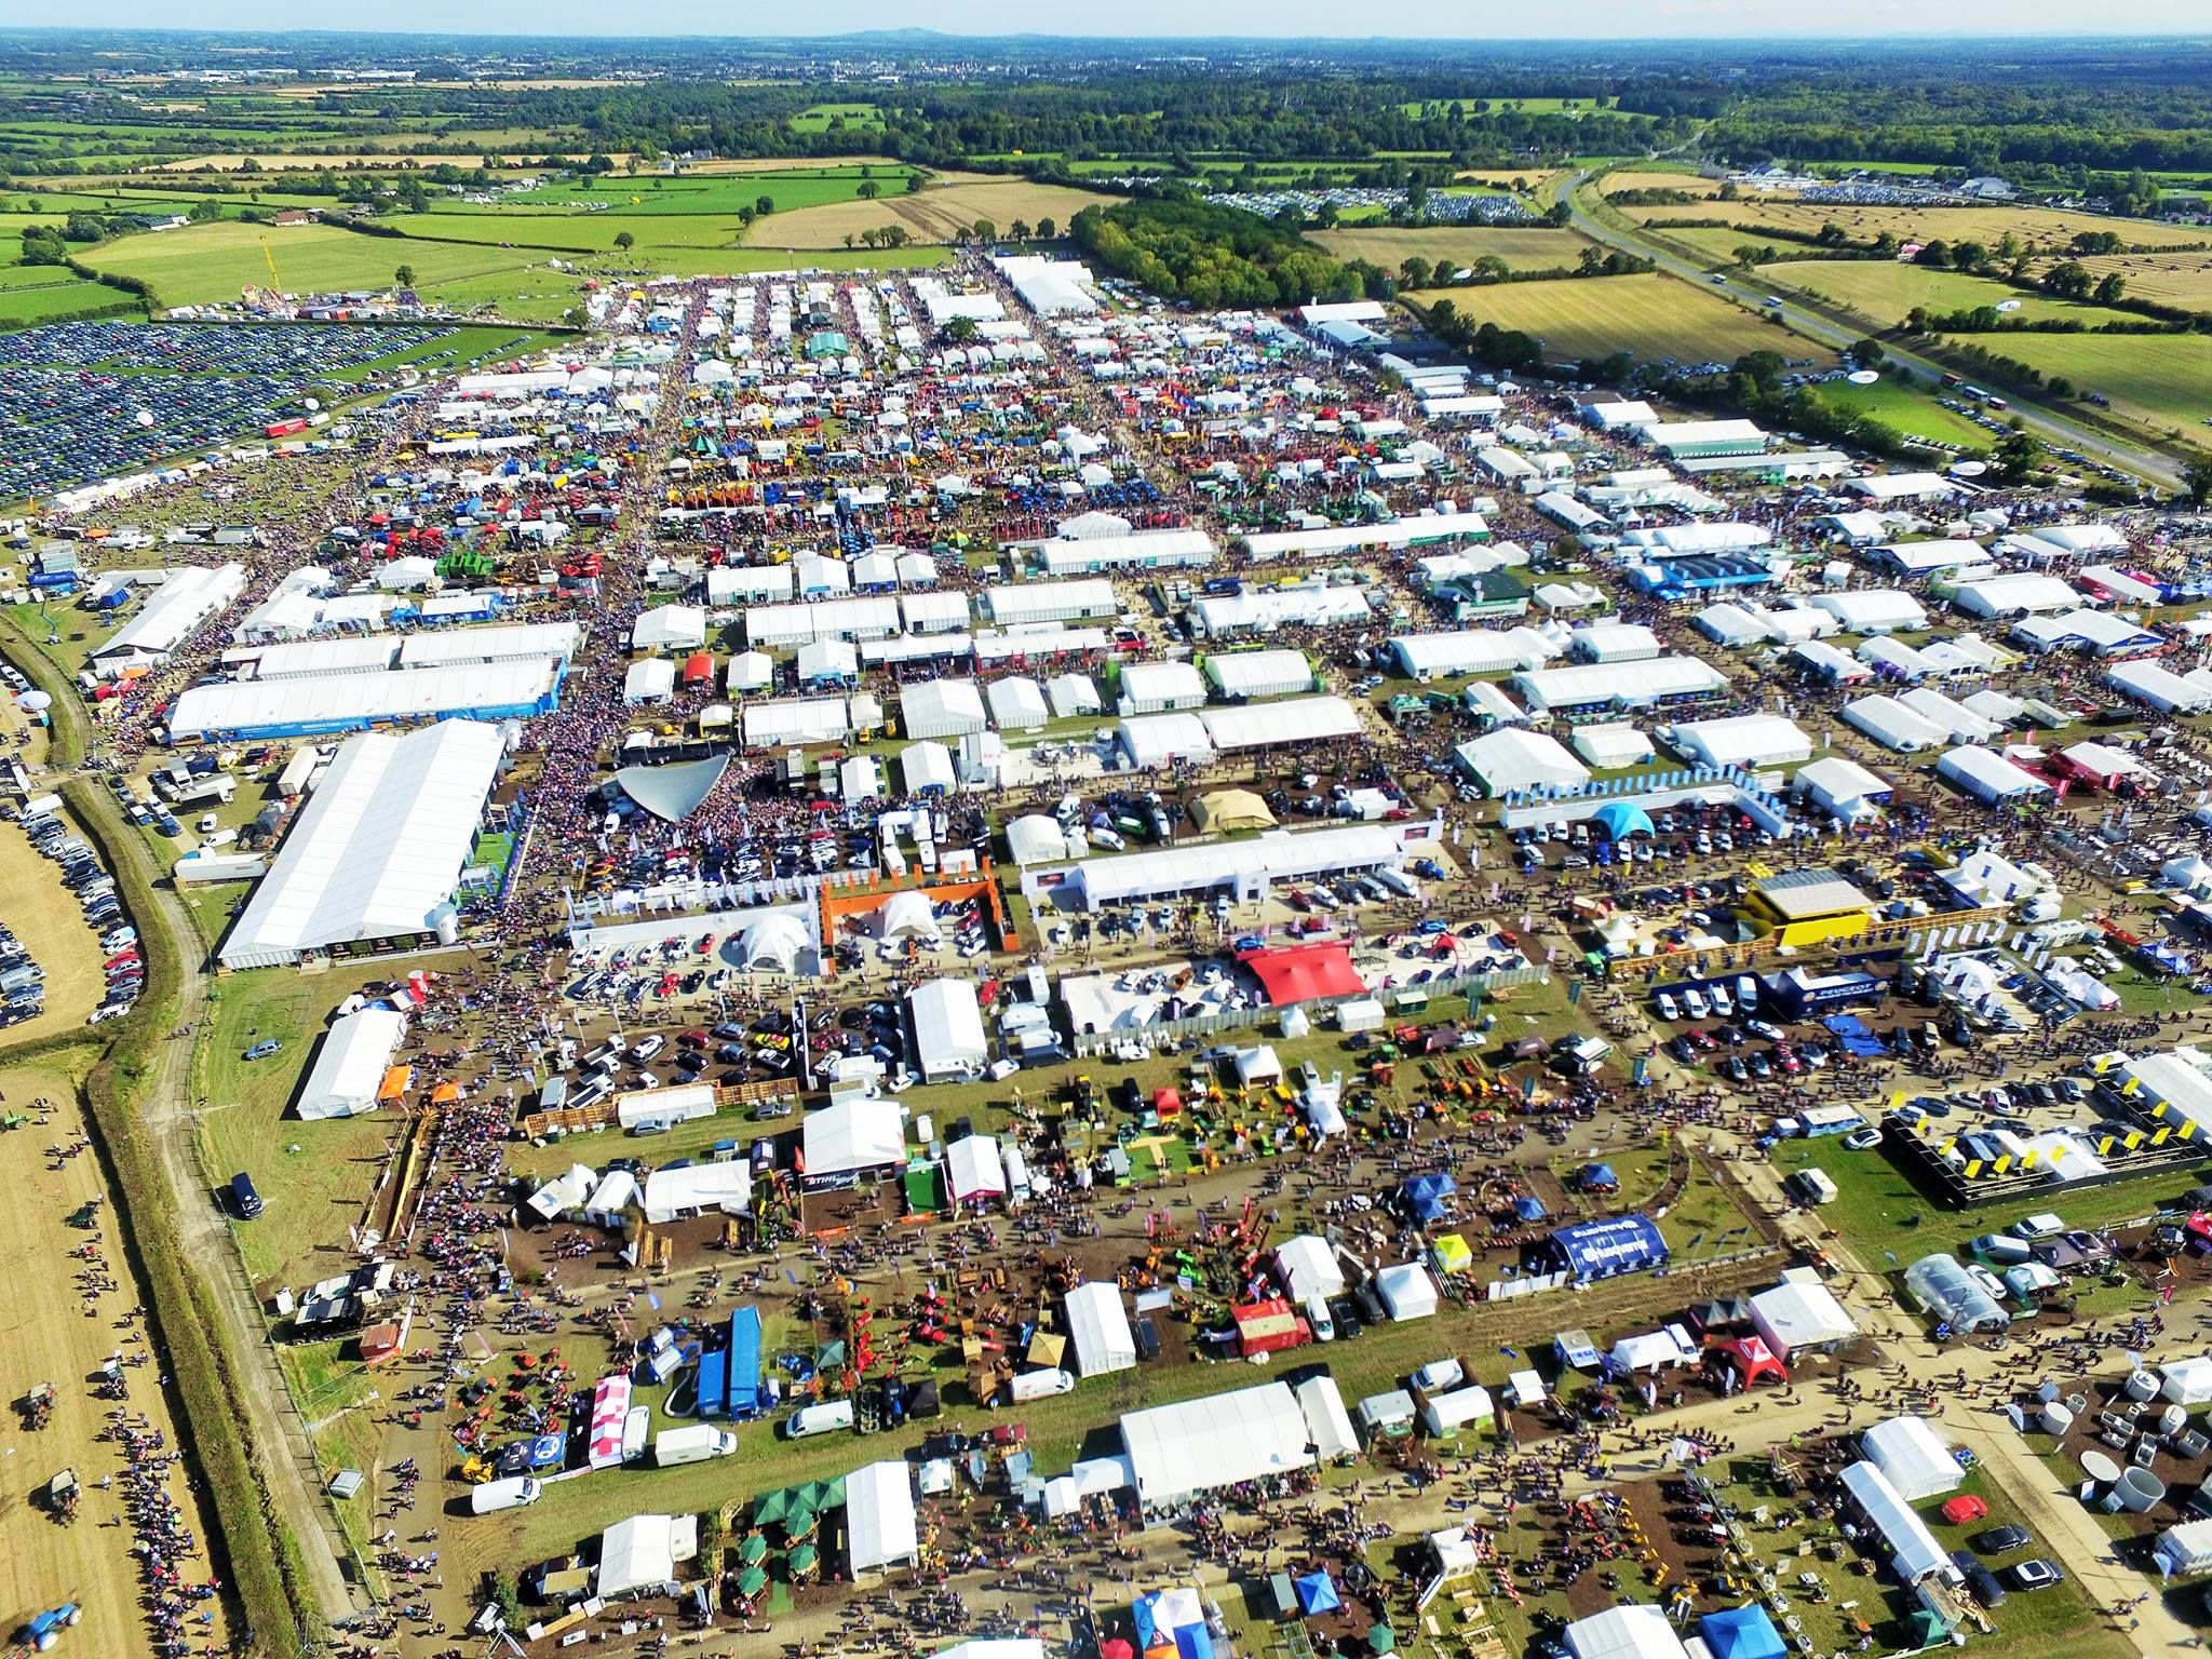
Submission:
<svg viewBox="0 0 2212 1659">
<path fill-rule="evenodd" d="M 1865 38 L 1865 35 L 2154 35 L 2205 33 L 2203 0 L 2110 0 L 2081 9 L 2070 0 L 1579 0 L 1531 13 L 1482 0 L 1396 0 L 1356 11 L 1343 0 L 1121 0 L 1075 15 L 1035 0 L 830 0 L 818 9 L 701 7 L 697 0 L 356 0 L 338 13 L 303 11 L 296 0 L 80 0 L 66 22 L 119 29 L 363 29 L 538 35 L 776 35 L 794 29 L 832 35 L 856 29 L 936 29 L 962 35 L 1057 33 L 1071 24 L 1093 35 L 1318 35 L 1387 33 L 1436 40 L 1528 40 L 1537 24 L 1551 40 L 1710 38 Z M 55 24 L 44 2 L 0 0 L 0 24 Z"/>
</svg>

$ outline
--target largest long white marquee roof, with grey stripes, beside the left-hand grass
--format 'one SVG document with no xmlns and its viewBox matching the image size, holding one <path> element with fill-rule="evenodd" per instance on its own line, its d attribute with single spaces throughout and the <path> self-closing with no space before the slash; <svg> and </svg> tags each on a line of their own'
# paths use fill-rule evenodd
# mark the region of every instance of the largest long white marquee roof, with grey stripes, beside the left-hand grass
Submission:
<svg viewBox="0 0 2212 1659">
<path fill-rule="evenodd" d="M 223 962 L 270 967 L 429 929 L 476 845 L 502 748 L 482 721 L 347 741 L 223 940 Z"/>
</svg>

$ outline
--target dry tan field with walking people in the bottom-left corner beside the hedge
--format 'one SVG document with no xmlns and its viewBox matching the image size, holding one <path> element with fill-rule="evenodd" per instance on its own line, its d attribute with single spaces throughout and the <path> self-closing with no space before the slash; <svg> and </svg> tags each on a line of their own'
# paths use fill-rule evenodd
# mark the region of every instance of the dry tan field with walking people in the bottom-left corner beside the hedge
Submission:
<svg viewBox="0 0 2212 1659">
<path fill-rule="evenodd" d="M 33 1117 L 13 1135 L 0 1135 L 0 1172 L 9 1183 L 9 1203 L 0 1206 L 0 1252 L 13 1270 L 7 1305 L 0 1310 L 0 1394 L 20 1400 L 35 1383 L 51 1383 L 55 1389 L 53 1418 L 44 1429 L 24 1431 L 9 1411 L 0 1597 L 7 1599 L 11 1626 L 35 1608 L 75 1599 L 84 1606 L 84 1624 L 69 1632 L 71 1652 L 126 1659 L 148 1652 L 148 1628 L 139 1610 L 137 1564 L 128 1555 L 131 1528 L 106 1524 L 122 1513 L 119 1482 L 113 1491 L 100 1491 L 102 1478 L 122 1471 L 115 1442 L 97 1438 L 111 1407 L 93 1396 L 86 1378 L 117 1349 L 119 1332 L 111 1321 L 139 1298 L 139 1290 L 122 1270 L 113 1225 L 102 1225 L 100 1250 L 119 1283 L 100 1298 L 106 1318 L 86 1316 L 75 1285 L 82 1263 L 71 1261 L 69 1252 L 91 1241 L 93 1232 L 69 1225 L 69 1217 L 91 1199 L 111 1203 L 113 1194 L 93 1152 L 71 1157 L 60 1170 L 44 1157 L 46 1146 L 73 1141 L 84 1128 L 77 1066 L 88 1060 L 88 1048 L 75 1048 L 38 1068 L 0 1062 L 0 1095 L 9 1110 L 24 1110 L 38 1099 L 55 1104 L 44 1128 Z M 93 1221 L 100 1225 L 104 1217 Z M 153 1367 L 131 1367 L 128 1378 L 131 1409 L 146 1411 L 170 1444 L 179 1444 L 168 1400 L 153 1385 Z M 73 1526 L 31 1500 L 31 1489 L 62 1469 L 75 1471 L 84 1493 Z M 184 1524 L 208 1537 L 208 1517 L 199 1513 L 192 1486 L 173 1475 L 168 1491 L 184 1506 Z M 184 1571 L 186 1577 L 204 1579 L 208 1559 L 186 1562 Z"/>
</svg>

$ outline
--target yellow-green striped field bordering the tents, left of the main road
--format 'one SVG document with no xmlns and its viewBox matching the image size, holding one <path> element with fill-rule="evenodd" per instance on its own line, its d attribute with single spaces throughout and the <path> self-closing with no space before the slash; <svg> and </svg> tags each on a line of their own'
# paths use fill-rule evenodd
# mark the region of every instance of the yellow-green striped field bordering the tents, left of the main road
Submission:
<svg viewBox="0 0 2212 1659">
<path fill-rule="evenodd" d="M 1628 352 L 1641 363 L 1734 363 L 1745 352 L 1834 363 L 1832 354 L 1809 341 L 1659 274 L 1438 288 L 1411 299 L 1449 299 L 1462 316 L 1478 323 L 1535 334 L 1555 363 L 1615 352 Z"/>
</svg>

